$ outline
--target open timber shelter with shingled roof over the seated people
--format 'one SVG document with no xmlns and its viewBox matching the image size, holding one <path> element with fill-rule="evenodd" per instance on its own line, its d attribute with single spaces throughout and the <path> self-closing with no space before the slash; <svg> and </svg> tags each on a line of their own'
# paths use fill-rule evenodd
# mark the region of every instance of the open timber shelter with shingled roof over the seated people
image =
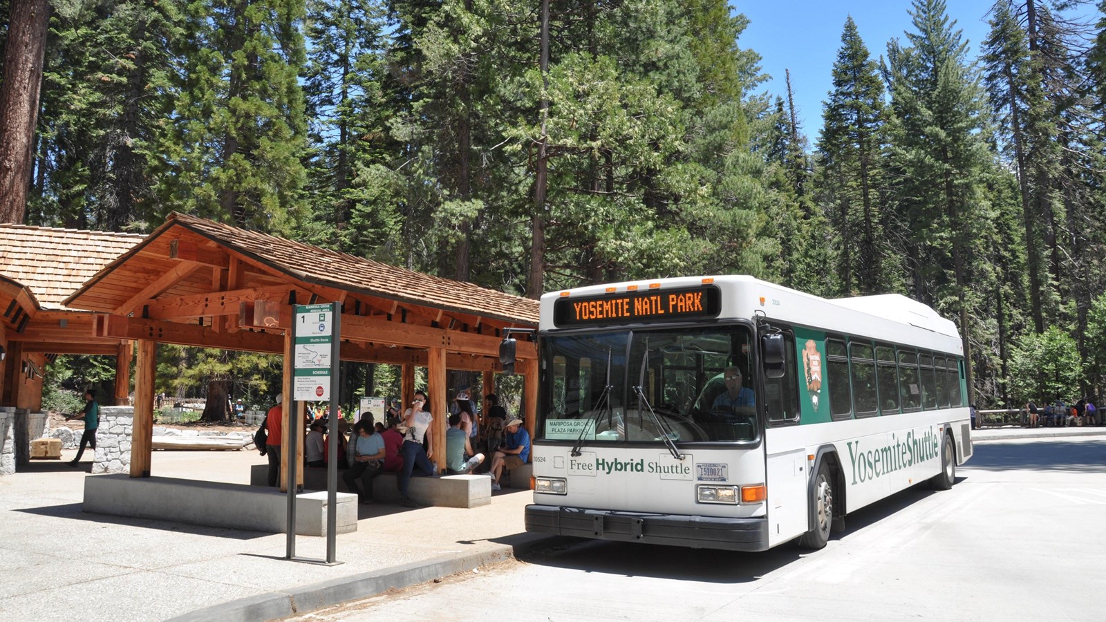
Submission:
<svg viewBox="0 0 1106 622">
<path fill-rule="evenodd" d="M 343 305 L 342 359 L 401 365 L 405 403 L 414 397 L 415 366 L 427 367 L 436 415 L 447 412 L 447 369 L 482 372 L 484 386 L 491 386 L 492 374 L 501 371 L 503 330 L 538 325 L 535 300 L 173 214 L 64 300 L 96 312 L 96 338 L 138 342 L 132 477 L 149 475 L 157 342 L 283 354 L 288 413 L 292 305 L 324 302 Z M 520 341 L 518 356 L 518 371 L 526 376 L 525 422 L 533 431 L 533 343 Z M 283 422 L 285 444 L 290 424 L 302 437 L 302 416 Z M 435 416 L 435 447 L 445 446 L 446 426 L 446 417 Z M 302 450 L 303 444 L 298 446 Z M 439 469 L 445 467 L 445 452 L 434 458 Z M 281 462 L 284 488 L 286 450 Z"/>
</svg>

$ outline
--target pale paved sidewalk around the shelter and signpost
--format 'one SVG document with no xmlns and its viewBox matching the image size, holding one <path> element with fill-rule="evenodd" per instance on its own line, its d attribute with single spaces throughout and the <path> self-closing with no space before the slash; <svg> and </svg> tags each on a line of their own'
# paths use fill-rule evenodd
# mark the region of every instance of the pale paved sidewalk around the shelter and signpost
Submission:
<svg viewBox="0 0 1106 622">
<path fill-rule="evenodd" d="M 246 484 L 262 460 L 255 452 L 155 452 L 152 470 Z M 82 467 L 34 460 L 0 478 L 0 620 L 269 620 L 559 541 L 525 533 L 529 490 L 503 490 L 473 509 L 358 506 L 358 530 L 337 536 L 343 563 L 291 562 L 283 533 L 86 514 Z M 326 539 L 298 537 L 296 554 L 324 559 Z"/>
</svg>

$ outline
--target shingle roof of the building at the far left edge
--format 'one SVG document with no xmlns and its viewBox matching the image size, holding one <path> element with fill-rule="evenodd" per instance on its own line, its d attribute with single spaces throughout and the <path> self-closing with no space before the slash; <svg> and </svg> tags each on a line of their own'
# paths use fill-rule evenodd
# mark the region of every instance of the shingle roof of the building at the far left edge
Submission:
<svg viewBox="0 0 1106 622">
<path fill-rule="evenodd" d="M 144 236 L 0 224 L 0 273 L 18 281 L 46 310 L 63 301 Z"/>
</svg>

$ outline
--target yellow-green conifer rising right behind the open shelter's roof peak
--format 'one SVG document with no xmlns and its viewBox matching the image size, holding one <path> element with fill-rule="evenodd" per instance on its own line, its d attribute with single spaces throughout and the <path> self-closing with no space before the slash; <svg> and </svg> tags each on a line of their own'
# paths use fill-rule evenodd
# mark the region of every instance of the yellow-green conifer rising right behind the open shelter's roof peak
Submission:
<svg viewBox="0 0 1106 622">
<path fill-rule="evenodd" d="M 168 208 L 273 231 L 302 217 L 304 11 L 303 0 L 188 6 L 159 188 Z"/>
</svg>

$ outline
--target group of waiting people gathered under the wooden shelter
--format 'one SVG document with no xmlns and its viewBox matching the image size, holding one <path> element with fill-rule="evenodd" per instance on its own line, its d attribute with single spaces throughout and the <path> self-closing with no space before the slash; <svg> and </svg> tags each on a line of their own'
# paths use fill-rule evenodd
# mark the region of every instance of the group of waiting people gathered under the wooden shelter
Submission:
<svg viewBox="0 0 1106 622">
<path fill-rule="evenodd" d="M 280 480 L 282 397 L 276 396 L 276 405 L 269 410 L 262 423 L 268 434 L 264 455 L 269 457 L 269 486 L 276 486 Z M 468 390 L 462 387 L 457 391 L 450 401 L 449 413 L 445 415 L 449 428 L 444 448 L 434 447 L 427 434 L 434 415 L 422 391 L 415 392 L 414 401 L 401 413 L 399 401 L 393 401 L 384 422 L 374 421 L 369 412 L 362 413 L 348 439 L 349 425 L 338 410 L 337 466 L 345 469 L 342 480 L 346 488 L 357 495 L 359 502 L 372 504 L 373 479 L 382 473 L 395 473 L 399 502 L 417 507 L 418 504 L 408 495 L 410 478 L 436 475 L 431 459 L 439 450 L 446 455 L 446 474 L 487 473 L 492 478 L 492 489 L 501 489 L 500 478 L 504 470 L 529 460 L 530 434 L 522 427 L 521 419 L 508 415 L 494 393 L 484 395 L 484 402 L 486 407 L 478 415 Z M 330 413 L 310 410 L 307 417 L 309 432 L 304 440 L 306 466 L 327 466 Z"/>
</svg>

